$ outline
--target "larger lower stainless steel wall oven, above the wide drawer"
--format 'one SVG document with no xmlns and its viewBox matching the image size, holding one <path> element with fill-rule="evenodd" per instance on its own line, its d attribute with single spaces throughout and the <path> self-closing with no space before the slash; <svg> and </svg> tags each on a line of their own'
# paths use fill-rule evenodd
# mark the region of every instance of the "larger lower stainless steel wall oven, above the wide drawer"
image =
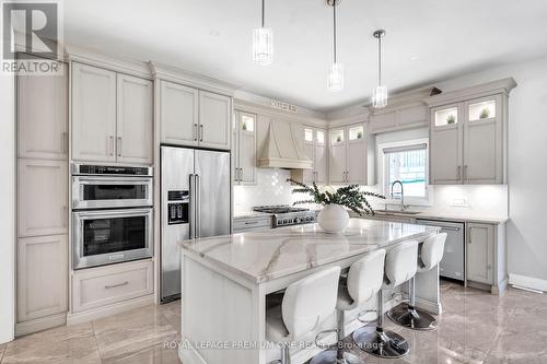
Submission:
<svg viewBox="0 0 547 364">
<path fill-rule="evenodd" d="M 152 257 L 152 208 L 72 212 L 73 269 Z"/>
</svg>

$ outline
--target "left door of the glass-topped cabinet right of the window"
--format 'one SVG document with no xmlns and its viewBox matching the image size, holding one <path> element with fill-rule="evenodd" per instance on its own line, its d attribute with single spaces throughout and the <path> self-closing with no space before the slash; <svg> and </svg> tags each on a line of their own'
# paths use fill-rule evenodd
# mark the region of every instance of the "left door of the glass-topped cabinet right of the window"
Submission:
<svg viewBox="0 0 547 364">
<path fill-rule="evenodd" d="M 432 185 L 462 183 L 463 132 L 458 105 L 431 111 L 430 174 Z"/>
</svg>

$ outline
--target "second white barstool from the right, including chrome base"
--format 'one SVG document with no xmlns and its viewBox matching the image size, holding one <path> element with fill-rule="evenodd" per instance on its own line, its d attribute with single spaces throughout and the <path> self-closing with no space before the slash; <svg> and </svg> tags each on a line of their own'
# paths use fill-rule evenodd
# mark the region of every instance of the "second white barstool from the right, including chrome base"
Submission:
<svg viewBox="0 0 547 364">
<path fill-rule="evenodd" d="M 400 357 L 408 353 L 408 342 L 398 333 L 384 330 L 383 291 L 407 282 L 416 274 L 418 242 L 406 242 L 387 251 L 385 278 L 377 293 L 376 328 L 365 326 L 353 332 L 353 341 L 369 354 L 380 357 Z"/>
</svg>

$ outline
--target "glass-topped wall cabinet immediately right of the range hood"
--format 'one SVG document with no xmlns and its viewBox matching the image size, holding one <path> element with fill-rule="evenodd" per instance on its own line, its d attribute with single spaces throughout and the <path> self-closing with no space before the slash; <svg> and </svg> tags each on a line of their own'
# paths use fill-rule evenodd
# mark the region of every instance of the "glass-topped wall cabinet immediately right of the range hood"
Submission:
<svg viewBox="0 0 547 364">
<path fill-rule="evenodd" d="M 307 126 L 302 131 L 303 150 L 313 161 L 313 169 L 292 169 L 291 177 L 304 184 L 325 185 L 328 183 L 327 131 Z"/>
</svg>

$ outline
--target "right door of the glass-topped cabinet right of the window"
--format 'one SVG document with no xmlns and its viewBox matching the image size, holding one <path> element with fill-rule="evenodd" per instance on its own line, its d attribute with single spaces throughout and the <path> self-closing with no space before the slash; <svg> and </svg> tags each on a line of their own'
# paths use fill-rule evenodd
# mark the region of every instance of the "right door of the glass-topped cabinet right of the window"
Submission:
<svg viewBox="0 0 547 364">
<path fill-rule="evenodd" d="M 464 183 L 503 183 L 503 140 L 501 97 L 476 99 L 466 104 L 464 124 Z"/>
</svg>

